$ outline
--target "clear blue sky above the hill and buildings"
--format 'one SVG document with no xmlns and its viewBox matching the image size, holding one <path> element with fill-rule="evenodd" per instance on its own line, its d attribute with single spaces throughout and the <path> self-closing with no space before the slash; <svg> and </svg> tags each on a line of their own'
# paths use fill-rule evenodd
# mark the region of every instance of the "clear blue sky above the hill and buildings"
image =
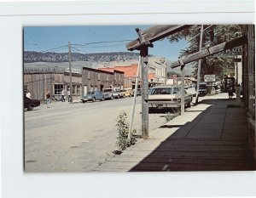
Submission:
<svg viewBox="0 0 256 198">
<path fill-rule="evenodd" d="M 150 25 L 95 25 L 95 26 L 27 26 L 24 27 L 24 50 L 42 52 L 58 48 L 56 53 L 67 52 L 72 44 L 87 44 L 84 47 L 73 45 L 72 52 L 83 54 L 104 52 L 128 52 L 125 44 L 137 38 L 135 28 L 145 30 Z M 123 41 L 123 42 L 112 42 Z M 89 44 L 90 42 L 106 42 Z M 167 39 L 154 42 L 154 48 L 149 48 L 149 54 L 176 60 L 180 49 L 187 47 L 187 42 L 170 43 Z M 80 51 L 78 51 L 79 49 Z M 135 50 L 134 52 L 138 52 Z"/>
</svg>

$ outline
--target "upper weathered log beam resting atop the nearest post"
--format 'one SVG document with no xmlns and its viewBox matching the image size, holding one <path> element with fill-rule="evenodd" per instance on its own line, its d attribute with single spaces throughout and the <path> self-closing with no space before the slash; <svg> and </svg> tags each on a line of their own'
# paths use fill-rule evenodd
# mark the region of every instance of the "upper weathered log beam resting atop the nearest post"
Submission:
<svg viewBox="0 0 256 198">
<path fill-rule="evenodd" d="M 148 29 L 141 31 L 143 39 L 145 42 L 152 43 L 162 38 L 165 38 L 169 35 L 176 33 L 177 31 L 182 31 L 185 28 L 188 28 L 191 25 L 154 25 L 148 27 Z M 126 44 L 127 50 L 133 51 L 135 49 L 140 49 L 142 43 L 139 38 L 134 41 L 128 42 Z"/>
</svg>

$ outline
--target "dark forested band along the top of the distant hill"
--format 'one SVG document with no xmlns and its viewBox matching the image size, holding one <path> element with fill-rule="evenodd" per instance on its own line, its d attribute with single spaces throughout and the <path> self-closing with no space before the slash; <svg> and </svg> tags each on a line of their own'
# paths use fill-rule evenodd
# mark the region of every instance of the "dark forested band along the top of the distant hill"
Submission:
<svg viewBox="0 0 256 198">
<path fill-rule="evenodd" d="M 90 61 L 90 62 L 110 62 L 128 59 L 137 59 L 138 53 L 131 52 L 113 52 L 113 53 L 93 53 L 79 54 L 72 53 L 72 61 Z M 52 53 L 52 52 L 31 52 L 25 51 L 23 54 L 25 63 L 32 62 L 68 62 L 68 53 Z"/>
</svg>

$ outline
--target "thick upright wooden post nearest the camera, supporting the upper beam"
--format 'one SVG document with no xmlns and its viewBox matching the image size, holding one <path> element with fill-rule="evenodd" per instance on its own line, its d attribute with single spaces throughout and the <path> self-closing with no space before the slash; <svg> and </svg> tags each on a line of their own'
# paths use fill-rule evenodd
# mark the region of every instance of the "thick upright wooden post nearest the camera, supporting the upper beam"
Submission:
<svg viewBox="0 0 256 198">
<path fill-rule="evenodd" d="M 142 138 L 148 139 L 148 47 L 141 50 L 142 59 Z"/>
</svg>

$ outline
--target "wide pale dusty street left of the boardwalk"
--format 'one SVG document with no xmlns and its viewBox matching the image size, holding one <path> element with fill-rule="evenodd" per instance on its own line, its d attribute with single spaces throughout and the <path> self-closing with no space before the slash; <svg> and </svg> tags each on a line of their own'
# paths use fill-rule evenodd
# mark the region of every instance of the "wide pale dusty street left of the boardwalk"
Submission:
<svg viewBox="0 0 256 198">
<path fill-rule="evenodd" d="M 25 111 L 26 172 L 90 172 L 113 156 L 122 110 L 130 116 L 132 99 L 96 103 L 54 102 Z M 134 127 L 141 128 L 141 98 Z M 166 122 L 165 114 L 149 115 L 149 133 Z M 140 132 L 139 132 L 140 133 Z"/>
</svg>

